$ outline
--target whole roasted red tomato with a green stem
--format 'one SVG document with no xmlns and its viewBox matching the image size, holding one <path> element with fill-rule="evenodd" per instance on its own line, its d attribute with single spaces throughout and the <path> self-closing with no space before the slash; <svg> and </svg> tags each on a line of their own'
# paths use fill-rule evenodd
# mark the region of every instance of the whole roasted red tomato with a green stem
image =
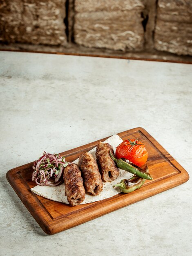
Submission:
<svg viewBox="0 0 192 256">
<path fill-rule="evenodd" d="M 136 164 L 142 166 L 147 162 L 148 153 L 145 145 L 138 139 L 126 139 L 116 148 L 116 158 L 125 158 Z"/>
</svg>

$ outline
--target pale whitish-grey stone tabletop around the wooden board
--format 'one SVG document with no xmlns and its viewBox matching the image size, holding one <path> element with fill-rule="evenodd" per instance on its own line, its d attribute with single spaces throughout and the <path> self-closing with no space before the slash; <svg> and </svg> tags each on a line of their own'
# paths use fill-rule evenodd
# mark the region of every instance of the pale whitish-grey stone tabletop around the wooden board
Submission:
<svg viewBox="0 0 192 256">
<path fill-rule="evenodd" d="M 0 52 L 2 255 L 192 255 L 192 182 L 47 236 L 5 178 L 141 126 L 192 172 L 192 65 Z"/>
</svg>

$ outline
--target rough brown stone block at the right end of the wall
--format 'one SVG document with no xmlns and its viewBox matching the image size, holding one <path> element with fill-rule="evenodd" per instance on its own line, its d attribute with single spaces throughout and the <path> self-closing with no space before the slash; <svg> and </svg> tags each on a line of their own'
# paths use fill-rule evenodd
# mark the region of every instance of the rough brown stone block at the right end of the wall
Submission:
<svg viewBox="0 0 192 256">
<path fill-rule="evenodd" d="M 192 0 L 159 0 L 154 47 L 192 55 Z"/>
</svg>

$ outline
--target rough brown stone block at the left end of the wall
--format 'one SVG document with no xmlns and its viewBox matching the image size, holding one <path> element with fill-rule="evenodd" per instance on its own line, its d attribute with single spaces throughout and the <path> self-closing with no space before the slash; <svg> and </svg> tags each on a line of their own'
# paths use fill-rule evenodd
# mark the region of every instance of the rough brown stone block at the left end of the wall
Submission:
<svg viewBox="0 0 192 256">
<path fill-rule="evenodd" d="M 65 0 L 1 0 L 0 41 L 65 45 Z"/>
</svg>

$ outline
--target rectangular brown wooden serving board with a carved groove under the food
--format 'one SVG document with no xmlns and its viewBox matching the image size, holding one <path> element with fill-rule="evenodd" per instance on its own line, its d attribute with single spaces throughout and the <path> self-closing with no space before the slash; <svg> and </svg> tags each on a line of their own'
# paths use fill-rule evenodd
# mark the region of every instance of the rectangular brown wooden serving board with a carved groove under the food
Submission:
<svg viewBox="0 0 192 256">
<path fill-rule="evenodd" d="M 133 204 L 152 195 L 156 195 L 189 179 L 187 171 L 143 128 L 134 128 L 118 133 L 123 139 L 138 138 L 148 151 L 147 164 L 153 180 L 146 180 L 141 189 L 132 193 L 120 193 L 98 202 L 71 207 L 69 204 L 54 202 L 31 192 L 35 183 L 31 181 L 32 163 L 11 169 L 7 180 L 25 204 L 33 218 L 47 234 L 56 234 L 65 229 L 82 224 L 121 207 Z M 61 153 L 69 162 L 74 161 L 84 152 L 94 148 L 99 141 Z"/>
</svg>

